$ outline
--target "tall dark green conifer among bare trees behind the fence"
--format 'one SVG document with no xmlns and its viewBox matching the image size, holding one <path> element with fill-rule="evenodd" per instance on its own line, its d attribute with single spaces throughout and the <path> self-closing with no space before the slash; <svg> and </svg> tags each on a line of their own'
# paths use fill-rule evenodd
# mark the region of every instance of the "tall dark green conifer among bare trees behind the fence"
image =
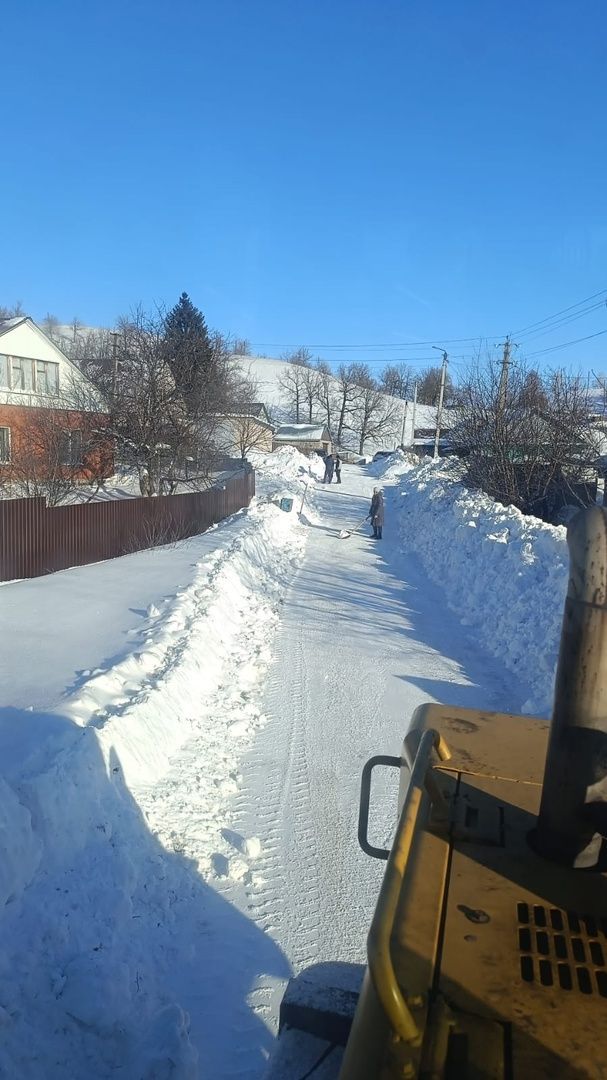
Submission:
<svg viewBox="0 0 607 1080">
<path fill-rule="evenodd" d="M 178 389 L 188 399 L 200 394 L 211 377 L 213 345 L 202 311 L 181 293 L 164 320 L 166 359 Z"/>
</svg>

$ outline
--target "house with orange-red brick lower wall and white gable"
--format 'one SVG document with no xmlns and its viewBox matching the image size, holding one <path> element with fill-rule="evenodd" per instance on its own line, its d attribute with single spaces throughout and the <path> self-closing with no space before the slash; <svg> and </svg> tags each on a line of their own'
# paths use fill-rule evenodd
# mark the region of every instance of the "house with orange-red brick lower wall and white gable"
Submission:
<svg viewBox="0 0 607 1080">
<path fill-rule="evenodd" d="M 113 450 L 95 388 L 29 318 L 0 322 L 0 482 L 54 473 L 91 483 L 113 473 Z"/>
</svg>

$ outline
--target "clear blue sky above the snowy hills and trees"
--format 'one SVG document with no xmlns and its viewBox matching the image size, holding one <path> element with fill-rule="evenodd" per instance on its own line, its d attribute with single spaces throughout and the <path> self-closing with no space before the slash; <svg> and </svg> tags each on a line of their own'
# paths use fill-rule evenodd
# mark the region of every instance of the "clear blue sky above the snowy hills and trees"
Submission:
<svg viewBox="0 0 607 1080">
<path fill-rule="evenodd" d="M 11 0 L 2 24 L 0 302 L 109 324 L 186 289 L 268 354 L 421 364 L 325 347 L 517 340 L 607 297 L 604 0 Z M 602 329 L 605 306 L 521 349 Z"/>
</svg>

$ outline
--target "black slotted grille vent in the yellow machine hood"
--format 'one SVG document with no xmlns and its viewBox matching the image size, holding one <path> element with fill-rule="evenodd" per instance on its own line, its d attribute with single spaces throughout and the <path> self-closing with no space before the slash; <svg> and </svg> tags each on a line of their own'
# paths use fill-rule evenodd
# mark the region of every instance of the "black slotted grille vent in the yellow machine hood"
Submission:
<svg viewBox="0 0 607 1080">
<path fill-rule="evenodd" d="M 607 998 L 607 918 L 539 904 L 517 904 L 516 915 L 525 983 Z"/>
</svg>

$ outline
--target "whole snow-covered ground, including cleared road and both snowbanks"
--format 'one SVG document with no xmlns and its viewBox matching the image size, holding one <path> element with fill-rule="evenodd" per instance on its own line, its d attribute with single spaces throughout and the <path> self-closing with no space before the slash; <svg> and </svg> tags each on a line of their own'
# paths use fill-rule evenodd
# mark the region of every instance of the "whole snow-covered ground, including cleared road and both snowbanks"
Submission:
<svg viewBox="0 0 607 1080">
<path fill-rule="evenodd" d="M 442 464 L 256 463 L 202 537 L 0 589 L 2 1077 L 261 1077 L 289 973 L 364 957 L 365 759 L 429 699 L 548 702 L 564 530 Z M 385 540 L 339 540 L 382 470 Z"/>
</svg>

